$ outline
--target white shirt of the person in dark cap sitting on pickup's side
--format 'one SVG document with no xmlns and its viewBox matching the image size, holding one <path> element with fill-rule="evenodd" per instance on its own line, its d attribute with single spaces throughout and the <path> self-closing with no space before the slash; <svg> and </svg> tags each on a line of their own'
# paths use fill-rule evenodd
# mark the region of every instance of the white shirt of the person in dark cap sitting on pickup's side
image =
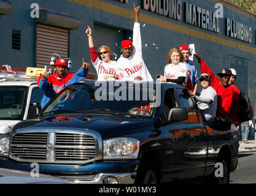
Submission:
<svg viewBox="0 0 256 196">
<path fill-rule="evenodd" d="M 205 104 L 200 101 L 197 102 L 201 115 L 207 118 L 215 118 L 217 110 L 217 93 L 214 88 L 211 86 L 208 86 L 208 88 L 203 88 L 200 97 L 208 98 L 213 101 L 212 104 Z"/>
</svg>

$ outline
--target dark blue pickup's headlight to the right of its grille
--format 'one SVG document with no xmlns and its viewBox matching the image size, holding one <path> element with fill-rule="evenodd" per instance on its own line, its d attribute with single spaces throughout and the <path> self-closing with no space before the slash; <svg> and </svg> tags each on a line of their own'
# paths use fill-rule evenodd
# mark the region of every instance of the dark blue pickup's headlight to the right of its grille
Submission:
<svg viewBox="0 0 256 196">
<path fill-rule="evenodd" d="M 103 159 L 137 159 L 139 140 L 135 138 L 112 138 L 103 141 Z"/>
</svg>

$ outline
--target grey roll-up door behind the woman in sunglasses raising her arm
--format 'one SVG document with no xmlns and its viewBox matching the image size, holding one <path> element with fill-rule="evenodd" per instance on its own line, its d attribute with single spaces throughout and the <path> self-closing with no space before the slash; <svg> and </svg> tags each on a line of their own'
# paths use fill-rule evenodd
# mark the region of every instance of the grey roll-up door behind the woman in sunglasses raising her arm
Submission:
<svg viewBox="0 0 256 196">
<path fill-rule="evenodd" d="M 120 57 L 121 53 L 120 48 L 118 47 L 121 46 L 122 40 L 127 39 L 126 35 L 127 32 L 121 29 L 110 28 L 98 24 L 93 25 L 93 43 L 95 45 L 95 49 L 98 51 L 99 47 L 107 45 L 111 48 L 112 52 L 116 54 L 114 55 L 114 60 L 117 60 Z"/>
</svg>

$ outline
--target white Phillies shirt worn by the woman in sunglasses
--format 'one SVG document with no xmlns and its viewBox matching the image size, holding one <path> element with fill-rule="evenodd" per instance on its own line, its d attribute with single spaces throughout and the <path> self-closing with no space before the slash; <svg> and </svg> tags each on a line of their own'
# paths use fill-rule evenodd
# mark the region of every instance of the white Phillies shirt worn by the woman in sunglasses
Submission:
<svg viewBox="0 0 256 196">
<path fill-rule="evenodd" d="M 116 61 L 111 61 L 111 63 L 108 64 L 107 62 L 101 61 L 101 59 L 98 57 L 95 62 L 91 62 L 93 63 L 93 66 L 95 67 L 98 75 L 97 81 L 106 81 L 104 79 L 104 75 L 106 74 L 116 74 Z M 109 80 L 112 80 L 112 78 L 109 78 Z"/>
</svg>

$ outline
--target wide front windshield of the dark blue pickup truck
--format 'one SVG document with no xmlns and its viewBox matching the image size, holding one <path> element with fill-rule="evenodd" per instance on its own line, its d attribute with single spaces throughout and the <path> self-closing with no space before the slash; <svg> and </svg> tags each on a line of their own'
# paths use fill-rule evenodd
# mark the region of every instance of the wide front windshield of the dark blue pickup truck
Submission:
<svg viewBox="0 0 256 196">
<path fill-rule="evenodd" d="M 96 84 L 96 83 L 95 83 Z M 160 94 L 160 93 L 158 93 Z M 41 112 L 41 115 L 54 113 L 101 113 L 153 117 L 157 95 L 154 86 L 123 83 L 115 86 L 76 85 L 69 86 Z"/>
</svg>

